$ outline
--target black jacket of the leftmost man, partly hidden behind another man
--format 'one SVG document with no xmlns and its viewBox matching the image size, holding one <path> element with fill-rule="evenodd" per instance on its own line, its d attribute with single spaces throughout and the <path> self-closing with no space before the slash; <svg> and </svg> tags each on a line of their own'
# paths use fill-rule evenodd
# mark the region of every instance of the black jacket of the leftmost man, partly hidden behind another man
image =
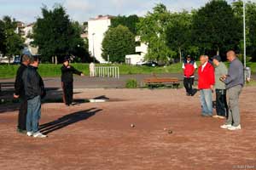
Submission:
<svg viewBox="0 0 256 170">
<path fill-rule="evenodd" d="M 26 70 L 27 66 L 21 64 L 17 73 L 16 73 L 16 79 L 15 79 L 15 94 L 20 95 L 20 97 L 25 97 L 24 92 L 24 86 L 22 81 L 22 74 Z"/>
</svg>

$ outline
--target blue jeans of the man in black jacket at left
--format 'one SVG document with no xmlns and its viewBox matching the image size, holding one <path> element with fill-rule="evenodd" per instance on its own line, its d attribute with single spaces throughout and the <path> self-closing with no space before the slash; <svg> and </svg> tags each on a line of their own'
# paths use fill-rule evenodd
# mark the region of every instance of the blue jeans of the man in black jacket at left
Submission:
<svg viewBox="0 0 256 170">
<path fill-rule="evenodd" d="M 38 132 L 38 121 L 41 116 L 41 97 L 27 100 L 26 131 Z"/>
</svg>

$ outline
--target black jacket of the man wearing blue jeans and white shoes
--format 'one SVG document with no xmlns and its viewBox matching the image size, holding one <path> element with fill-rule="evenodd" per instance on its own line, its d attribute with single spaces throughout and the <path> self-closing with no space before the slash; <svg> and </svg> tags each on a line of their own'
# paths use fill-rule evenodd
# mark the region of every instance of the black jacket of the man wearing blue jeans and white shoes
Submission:
<svg viewBox="0 0 256 170">
<path fill-rule="evenodd" d="M 22 80 L 24 82 L 26 99 L 33 99 L 38 95 L 44 98 L 46 94 L 43 79 L 37 70 L 37 67 L 29 65 L 23 72 Z"/>
</svg>

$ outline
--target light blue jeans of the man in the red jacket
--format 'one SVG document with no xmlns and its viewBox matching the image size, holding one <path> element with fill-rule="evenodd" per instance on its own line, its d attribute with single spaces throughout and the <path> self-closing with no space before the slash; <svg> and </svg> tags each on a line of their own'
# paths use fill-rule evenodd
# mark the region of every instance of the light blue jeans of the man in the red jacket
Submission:
<svg viewBox="0 0 256 170">
<path fill-rule="evenodd" d="M 203 116 L 212 116 L 212 90 L 201 89 L 201 108 Z"/>
</svg>

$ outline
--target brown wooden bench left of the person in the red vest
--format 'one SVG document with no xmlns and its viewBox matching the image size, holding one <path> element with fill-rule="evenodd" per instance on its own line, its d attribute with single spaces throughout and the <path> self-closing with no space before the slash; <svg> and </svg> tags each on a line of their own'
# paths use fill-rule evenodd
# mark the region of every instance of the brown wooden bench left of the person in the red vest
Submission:
<svg viewBox="0 0 256 170">
<path fill-rule="evenodd" d="M 143 80 L 144 85 L 148 86 L 148 88 L 155 88 L 160 86 L 178 88 L 180 85 L 178 78 L 146 78 Z"/>
</svg>

